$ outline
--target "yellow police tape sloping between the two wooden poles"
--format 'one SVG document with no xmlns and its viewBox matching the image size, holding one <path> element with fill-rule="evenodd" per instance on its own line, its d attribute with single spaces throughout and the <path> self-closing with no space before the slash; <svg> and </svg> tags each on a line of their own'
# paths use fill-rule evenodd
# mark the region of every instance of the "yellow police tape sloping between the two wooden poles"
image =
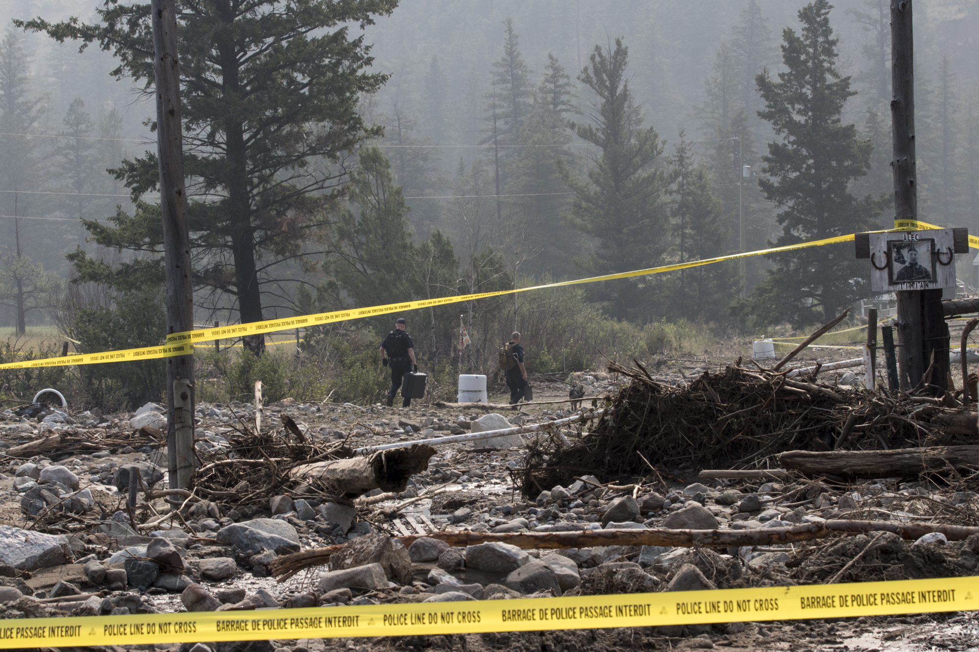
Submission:
<svg viewBox="0 0 979 652">
<path fill-rule="evenodd" d="M 934 224 L 928 224 L 927 222 L 919 222 L 915 220 L 895 220 L 894 227 L 896 230 L 915 230 L 915 229 L 931 229 L 931 228 L 941 228 L 935 226 Z M 187 331 L 183 333 L 173 333 L 166 336 L 167 347 L 148 347 L 146 349 L 125 349 L 125 350 L 114 350 L 114 351 L 103 351 L 101 353 L 91 353 L 91 354 L 81 354 L 81 355 L 67 355 L 64 357 L 49 357 L 39 360 L 25 360 L 23 362 L 8 362 L 6 364 L 0 364 L 0 369 L 27 369 L 27 368 L 37 368 L 37 367 L 47 367 L 47 366 L 65 366 L 65 365 L 75 365 L 75 364 L 100 364 L 103 362 L 125 362 L 132 360 L 148 360 L 160 357 L 172 357 L 175 355 L 187 355 L 193 352 L 190 347 L 185 348 L 188 343 L 199 343 L 199 342 L 210 342 L 213 340 L 225 340 L 229 338 L 240 338 L 249 335 L 264 335 L 266 333 L 274 333 L 276 331 L 290 330 L 293 328 L 308 328 L 310 326 L 322 326 L 324 324 L 338 322 L 338 321 L 349 321 L 351 319 L 363 319 L 364 317 L 372 317 L 379 314 L 385 314 L 390 312 L 404 312 L 407 310 L 416 310 L 418 308 L 433 307 L 436 305 L 447 305 L 449 303 L 463 303 L 469 301 L 476 301 L 480 299 L 489 299 L 490 297 L 500 297 L 503 295 L 512 295 L 520 292 L 531 292 L 533 290 L 544 290 L 548 288 L 561 288 L 571 285 L 581 285 L 585 283 L 597 283 L 598 281 L 612 281 L 616 279 L 633 278 L 636 276 L 647 276 L 650 274 L 660 274 L 663 272 L 676 271 L 679 269 L 689 269 L 691 267 L 699 267 L 701 265 L 708 265 L 715 262 L 723 262 L 726 260 L 736 260 L 738 258 L 744 258 L 749 256 L 764 256 L 766 254 L 779 254 L 782 252 L 791 252 L 799 249 L 808 249 L 810 247 L 822 247 L 825 245 L 835 245 L 844 242 L 853 242 L 855 235 L 853 233 L 843 236 L 836 236 L 834 238 L 824 238 L 822 240 L 815 240 L 812 242 L 802 242 L 796 245 L 786 245 L 784 247 L 774 247 L 772 249 L 763 249 L 755 252 L 746 252 L 744 254 L 731 254 L 729 256 L 718 256 L 715 258 L 704 258 L 703 260 L 692 260 L 690 262 L 681 262 L 672 265 L 663 265 L 660 267 L 649 267 L 647 269 L 636 269 L 629 272 L 621 272 L 618 274 L 605 274 L 603 276 L 591 276 L 589 278 L 576 279 L 574 281 L 561 281 L 559 283 L 547 283 L 544 285 L 535 285 L 528 288 L 516 288 L 514 290 L 500 290 L 497 292 L 483 292 L 471 295 L 459 295 L 455 297 L 443 297 L 440 299 L 425 299 L 414 302 L 402 302 L 402 303 L 388 303 L 386 305 L 371 305 L 369 307 L 363 308 L 350 308 L 348 310 L 335 310 L 333 312 L 319 312 L 315 314 L 307 314 L 298 317 L 290 317 L 286 319 L 266 319 L 264 321 L 254 321 L 247 324 L 237 324 L 234 326 L 222 326 L 217 328 L 204 328 L 197 331 Z M 979 249 L 979 238 L 974 238 L 969 236 L 969 244 Z"/>
</svg>

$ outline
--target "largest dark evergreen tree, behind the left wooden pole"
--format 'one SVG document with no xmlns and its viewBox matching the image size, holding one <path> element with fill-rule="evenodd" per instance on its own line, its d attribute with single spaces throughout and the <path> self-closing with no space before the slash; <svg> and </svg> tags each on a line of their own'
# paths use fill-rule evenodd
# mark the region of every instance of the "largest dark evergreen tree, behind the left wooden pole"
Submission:
<svg viewBox="0 0 979 652">
<path fill-rule="evenodd" d="M 379 135 L 356 108 L 387 75 L 367 71 L 370 47 L 350 27 L 362 31 L 395 7 L 396 0 L 178 2 L 185 169 L 195 192 L 221 198 L 190 207 L 194 255 L 207 266 L 195 281 L 229 295 L 243 323 L 264 318 L 263 287 L 282 280 L 277 263 L 309 255 L 305 243 L 325 227 L 348 180 L 346 153 Z M 82 48 L 97 43 L 117 56 L 117 77 L 152 88 L 150 4 L 106 0 L 97 13 L 92 24 L 15 23 Z M 121 167 L 134 198 L 157 188 L 157 167 L 149 153 Z M 104 246 L 162 251 L 159 207 L 141 203 L 134 216 L 115 220 L 116 228 L 86 227 Z M 163 280 L 163 256 L 108 272 L 80 251 L 73 259 L 91 280 L 149 282 L 135 278 L 138 270 Z M 261 352 L 264 338 L 250 336 L 246 345 Z"/>
</svg>

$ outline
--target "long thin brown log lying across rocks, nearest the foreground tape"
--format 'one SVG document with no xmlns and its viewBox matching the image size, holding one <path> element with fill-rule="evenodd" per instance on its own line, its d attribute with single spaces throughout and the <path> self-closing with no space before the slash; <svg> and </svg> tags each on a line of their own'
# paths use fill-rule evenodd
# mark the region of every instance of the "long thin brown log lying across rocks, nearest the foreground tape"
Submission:
<svg viewBox="0 0 979 652">
<path fill-rule="evenodd" d="M 917 539 L 933 532 L 940 532 L 950 541 L 961 541 L 979 535 L 979 528 L 939 525 L 933 523 L 894 523 L 888 521 L 824 521 L 807 523 L 788 528 L 763 528 L 756 530 L 587 530 L 580 532 L 527 532 L 482 533 L 443 532 L 432 533 L 451 546 L 464 547 L 498 541 L 525 550 L 556 548 L 589 548 L 596 545 L 662 545 L 669 547 L 741 547 L 744 545 L 774 545 L 807 541 L 833 534 L 861 535 L 868 532 L 891 532 L 902 538 Z M 405 547 L 423 536 L 396 537 Z M 315 566 L 324 566 L 330 556 L 342 545 L 304 550 L 277 557 L 268 565 L 272 577 L 285 582 L 297 573 Z"/>
</svg>

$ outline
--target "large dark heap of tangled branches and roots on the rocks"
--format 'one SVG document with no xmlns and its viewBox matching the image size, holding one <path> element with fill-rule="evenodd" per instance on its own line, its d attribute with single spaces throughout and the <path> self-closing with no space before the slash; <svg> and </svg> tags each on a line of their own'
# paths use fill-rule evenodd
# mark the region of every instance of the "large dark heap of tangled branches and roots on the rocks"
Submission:
<svg viewBox="0 0 979 652">
<path fill-rule="evenodd" d="M 786 450 L 954 442 L 941 426 L 914 419 L 922 405 L 913 399 L 833 387 L 812 376 L 788 379 L 788 370 L 740 363 L 675 388 L 654 380 L 638 362 L 638 369 L 610 362 L 610 372 L 631 379 L 612 409 L 580 442 L 556 449 L 532 444 L 514 484 L 532 495 L 584 474 L 607 481 L 649 475 L 651 467 L 767 468 L 770 456 Z"/>
</svg>

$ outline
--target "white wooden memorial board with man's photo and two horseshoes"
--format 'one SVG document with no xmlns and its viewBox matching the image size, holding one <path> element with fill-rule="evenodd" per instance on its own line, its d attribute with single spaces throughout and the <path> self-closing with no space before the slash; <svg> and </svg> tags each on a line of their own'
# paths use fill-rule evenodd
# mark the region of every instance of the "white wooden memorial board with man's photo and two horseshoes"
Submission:
<svg viewBox="0 0 979 652">
<path fill-rule="evenodd" d="M 964 237 L 959 245 L 953 229 L 858 234 L 858 257 L 870 258 L 870 290 L 955 288 L 956 251 L 968 247 Z"/>
</svg>

